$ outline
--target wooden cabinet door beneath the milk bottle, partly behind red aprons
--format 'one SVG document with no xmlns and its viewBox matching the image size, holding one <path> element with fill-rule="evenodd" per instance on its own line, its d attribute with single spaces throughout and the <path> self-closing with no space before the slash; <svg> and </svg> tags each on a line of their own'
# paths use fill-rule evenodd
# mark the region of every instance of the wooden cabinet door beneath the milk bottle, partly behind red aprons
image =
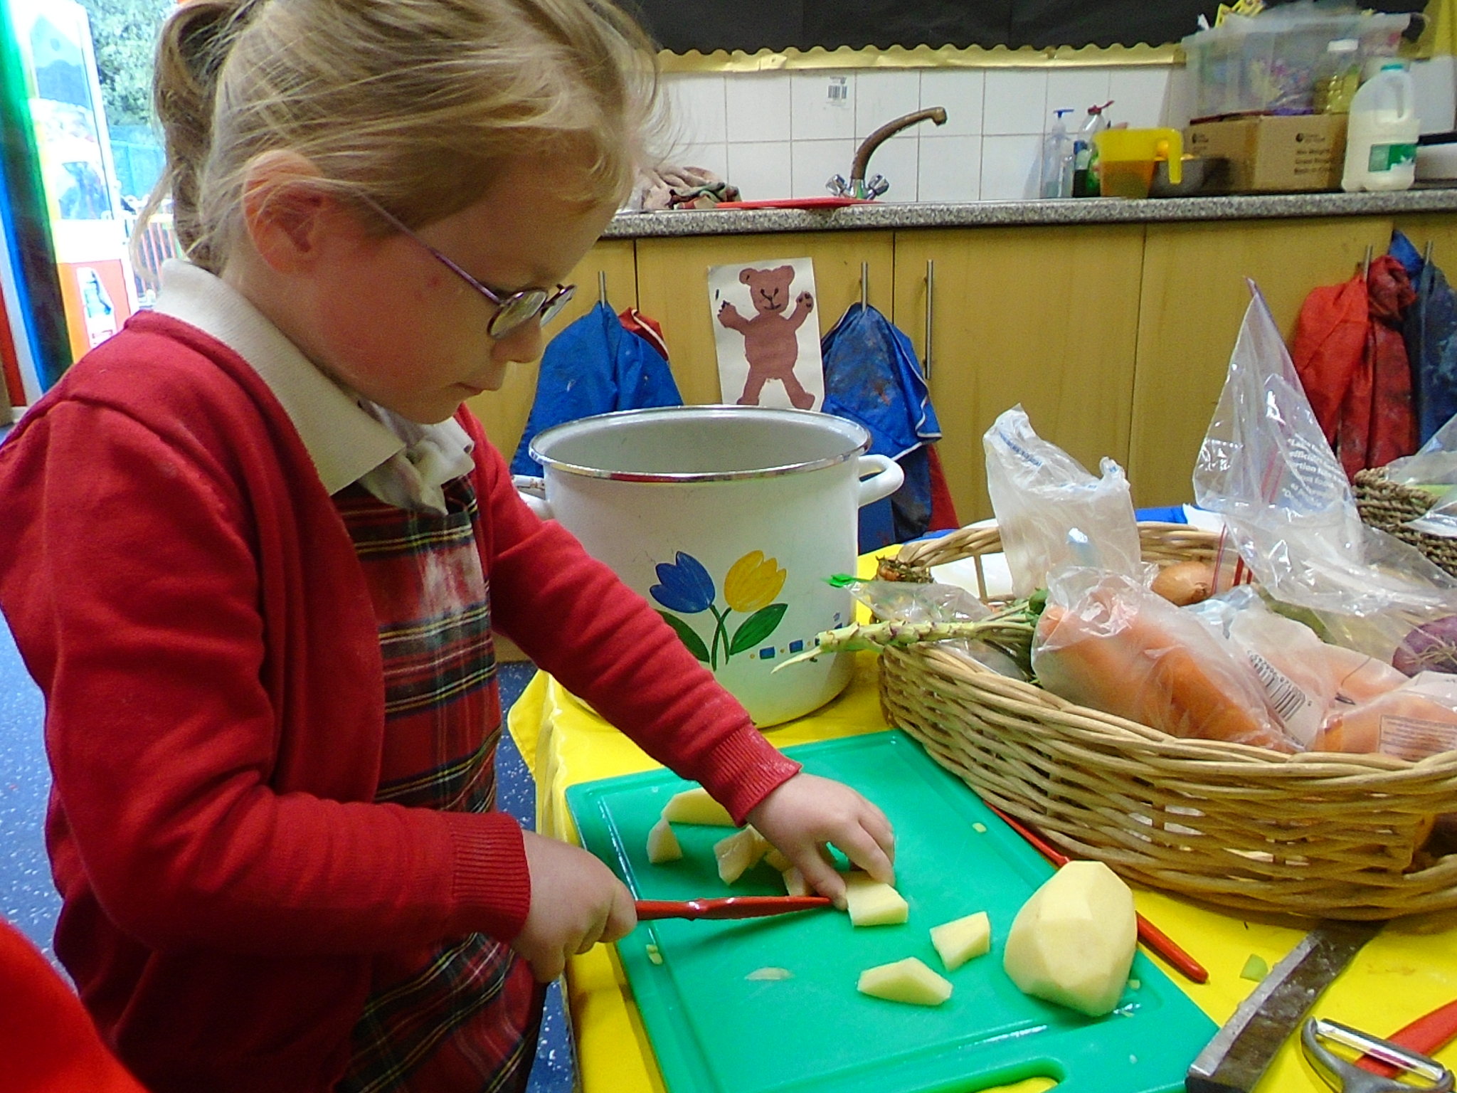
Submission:
<svg viewBox="0 0 1457 1093">
<path fill-rule="evenodd" d="M 1287 341 L 1317 284 L 1349 278 L 1381 217 L 1150 224 L 1139 293 L 1128 478 L 1139 506 L 1193 497 L 1199 444 L 1224 389 L 1253 278 Z"/>
</svg>

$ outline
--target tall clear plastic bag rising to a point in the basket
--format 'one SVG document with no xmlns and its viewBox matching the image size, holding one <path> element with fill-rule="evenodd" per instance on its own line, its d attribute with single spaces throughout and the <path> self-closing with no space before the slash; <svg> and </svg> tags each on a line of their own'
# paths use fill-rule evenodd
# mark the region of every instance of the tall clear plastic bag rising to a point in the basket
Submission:
<svg viewBox="0 0 1457 1093">
<path fill-rule="evenodd" d="M 1368 528 L 1259 290 L 1193 474 L 1265 595 L 1321 637 L 1390 663 L 1410 630 L 1457 615 L 1457 580 Z"/>
</svg>

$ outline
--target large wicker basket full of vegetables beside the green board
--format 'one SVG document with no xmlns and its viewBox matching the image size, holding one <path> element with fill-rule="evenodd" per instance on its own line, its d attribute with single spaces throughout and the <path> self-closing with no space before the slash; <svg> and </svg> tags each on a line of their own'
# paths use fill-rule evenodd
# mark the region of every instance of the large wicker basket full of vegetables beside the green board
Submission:
<svg viewBox="0 0 1457 1093">
<path fill-rule="evenodd" d="M 1183 525 L 1139 530 L 1150 561 L 1215 551 L 1215 535 Z M 1000 549 L 995 528 L 963 528 L 899 557 L 940 565 Z M 1419 850 L 1432 818 L 1457 810 L 1457 752 L 1409 762 L 1182 740 L 934 644 L 883 650 L 880 698 L 890 724 L 985 800 L 1129 880 L 1308 917 L 1457 906 L 1457 854 Z"/>
</svg>

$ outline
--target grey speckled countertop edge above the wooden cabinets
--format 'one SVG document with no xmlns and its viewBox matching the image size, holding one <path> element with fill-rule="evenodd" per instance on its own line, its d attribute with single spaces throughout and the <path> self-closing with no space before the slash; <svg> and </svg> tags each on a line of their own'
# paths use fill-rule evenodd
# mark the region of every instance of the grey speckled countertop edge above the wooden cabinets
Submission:
<svg viewBox="0 0 1457 1093">
<path fill-rule="evenodd" d="M 830 210 L 689 208 L 663 213 L 619 213 L 608 224 L 603 239 L 916 227 L 1279 220 L 1413 213 L 1457 213 L 1457 187 L 1431 187 L 1396 194 L 1238 194 L 1145 198 L 1142 201 L 1123 198 L 967 201 L 962 204 L 873 201 Z"/>
</svg>

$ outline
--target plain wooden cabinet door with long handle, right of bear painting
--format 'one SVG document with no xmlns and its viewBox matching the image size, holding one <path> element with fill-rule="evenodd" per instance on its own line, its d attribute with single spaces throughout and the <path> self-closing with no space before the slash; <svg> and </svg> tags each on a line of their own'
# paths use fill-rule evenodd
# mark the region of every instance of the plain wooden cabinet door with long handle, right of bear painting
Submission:
<svg viewBox="0 0 1457 1093">
<path fill-rule="evenodd" d="M 963 522 L 992 514 L 982 434 L 1021 404 L 1096 469 L 1128 463 L 1144 227 L 983 227 L 896 235 L 895 322 L 925 357 L 941 462 Z"/>
</svg>

